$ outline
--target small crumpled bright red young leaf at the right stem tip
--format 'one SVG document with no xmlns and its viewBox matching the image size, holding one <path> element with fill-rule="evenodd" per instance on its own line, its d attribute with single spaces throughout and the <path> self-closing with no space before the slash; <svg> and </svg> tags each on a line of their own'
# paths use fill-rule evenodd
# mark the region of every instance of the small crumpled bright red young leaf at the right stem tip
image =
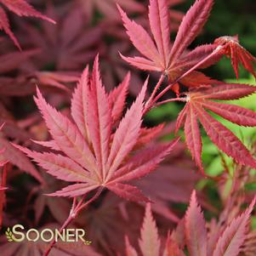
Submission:
<svg viewBox="0 0 256 256">
<path fill-rule="evenodd" d="M 230 57 L 231 64 L 233 65 L 236 73 L 236 78 L 239 78 L 238 65 L 241 64 L 247 71 L 253 74 L 256 78 L 253 64 L 256 63 L 256 58 L 253 57 L 245 48 L 240 45 L 238 36 L 236 37 L 219 37 L 214 43 L 223 46 L 224 53 Z"/>
</svg>

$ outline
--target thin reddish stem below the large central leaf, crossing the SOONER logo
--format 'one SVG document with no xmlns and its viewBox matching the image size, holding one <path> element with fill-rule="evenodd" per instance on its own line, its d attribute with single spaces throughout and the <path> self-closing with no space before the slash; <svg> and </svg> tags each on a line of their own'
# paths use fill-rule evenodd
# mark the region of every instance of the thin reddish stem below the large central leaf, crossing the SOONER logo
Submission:
<svg viewBox="0 0 256 256">
<path fill-rule="evenodd" d="M 102 191 L 103 191 L 103 187 L 100 187 L 99 190 L 95 193 L 95 195 L 88 200 L 88 202 L 83 202 L 86 195 L 82 196 L 82 199 L 78 203 L 77 203 L 77 197 L 74 197 L 69 217 L 65 219 L 65 223 L 60 227 L 59 232 L 61 233 L 68 225 L 70 225 L 71 222 L 77 218 L 77 215 L 81 212 L 81 210 L 83 208 L 86 208 L 91 202 L 94 202 L 94 200 L 96 200 L 100 196 Z M 50 242 L 49 247 L 45 251 L 45 253 L 43 253 L 43 256 L 48 256 L 48 254 L 51 252 L 55 244 L 56 244 L 56 240 L 53 240 L 52 242 Z"/>
</svg>

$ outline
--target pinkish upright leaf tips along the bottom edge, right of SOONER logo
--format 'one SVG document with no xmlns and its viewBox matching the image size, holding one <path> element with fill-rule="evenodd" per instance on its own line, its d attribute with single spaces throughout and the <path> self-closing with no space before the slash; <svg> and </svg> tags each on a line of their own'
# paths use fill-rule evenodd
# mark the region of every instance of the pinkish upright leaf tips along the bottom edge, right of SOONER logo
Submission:
<svg viewBox="0 0 256 256">
<path fill-rule="evenodd" d="M 225 230 L 219 236 L 214 252 L 208 254 L 208 240 L 215 234 L 208 234 L 202 209 L 196 199 L 196 191 L 192 192 L 190 206 L 181 219 L 176 230 L 168 233 L 163 253 L 159 251 L 160 242 L 156 222 L 152 218 L 150 204 L 145 209 L 145 218 L 141 230 L 139 247 L 143 256 L 185 256 L 185 246 L 190 256 L 237 256 L 242 251 L 247 236 L 249 217 L 255 205 L 255 198 L 250 206 L 240 216 L 231 220 L 230 225 L 225 225 Z M 138 253 L 126 240 L 126 255 L 136 256 Z"/>
</svg>

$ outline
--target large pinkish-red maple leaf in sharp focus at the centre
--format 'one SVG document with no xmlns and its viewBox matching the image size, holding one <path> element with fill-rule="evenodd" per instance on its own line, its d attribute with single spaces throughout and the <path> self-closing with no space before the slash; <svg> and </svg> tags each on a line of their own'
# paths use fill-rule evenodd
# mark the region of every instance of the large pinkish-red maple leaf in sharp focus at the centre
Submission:
<svg viewBox="0 0 256 256">
<path fill-rule="evenodd" d="M 129 200 L 148 201 L 135 186 L 123 182 L 153 171 L 178 139 L 165 145 L 143 148 L 130 156 L 139 140 L 146 86 L 147 81 L 114 133 L 113 120 L 122 112 L 125 94 L 117 94 L 114 104 L 110 104 L 113 95 L 105 93 L 98 57 L 90 79 L 86 68 L 73 94 L 71 117 L 74 122 L 48 105 L 37 89 L 35 101 L 53 137 L 48 146 L 63 154 L 20 149 L 49 174 L 75 182 L 52 196 L 81 196 L 102 187 Z M 122 88 L 127 88 L 127 85 L 122 83 L 120 92 Z"/>
</svg>

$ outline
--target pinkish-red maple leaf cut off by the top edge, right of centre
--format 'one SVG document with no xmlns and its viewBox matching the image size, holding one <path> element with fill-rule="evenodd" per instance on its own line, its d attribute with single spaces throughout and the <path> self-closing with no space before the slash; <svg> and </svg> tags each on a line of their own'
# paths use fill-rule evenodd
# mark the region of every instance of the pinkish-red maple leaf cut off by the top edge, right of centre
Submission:
<svg viewBox="0 0 256 256">
<path fill-rule="evenodd" d="M 208 20 L 208 15 L 213 6 L 213 0 L 197 0 L 182 20 L 179 31 L 173 46 L 170 43 L 170 14 L 166 0 L 151 0 L 149 6 L 149 20 L 151 33 L 154 41 L 142 26 L 129 20 L 127 14 L 118 6 L 122 15 L 122 21 L 126 27 L 128 36 L 134 47 L 145 57 L 124 57 L 131 65 L 141 70 L 159 71 L 168 76 L 169 82 L 174 82 L 185 71 L 193 65 L 205 59 L 217 45 L 209 44 L 195 48 L 191 53 L 185 54 L 186 48 L 202 30 L 202 26 Z M 208 61 L 202 67 L 212 65 L 218 60 Z M 209 85 L 212 79 L 206 77 L 199 71 L 192 71 L 180 82 L 188 87 L 198 87 L 198 85 Z"/>
</svg>

